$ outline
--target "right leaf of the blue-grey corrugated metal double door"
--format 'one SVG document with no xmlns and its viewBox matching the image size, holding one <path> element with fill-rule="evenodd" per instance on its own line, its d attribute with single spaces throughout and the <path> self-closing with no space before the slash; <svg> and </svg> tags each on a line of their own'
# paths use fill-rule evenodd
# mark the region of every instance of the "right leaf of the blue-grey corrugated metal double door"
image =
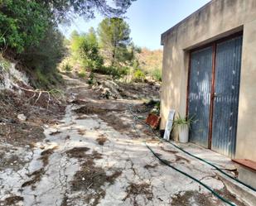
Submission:
<svg viewBox="0 0 256 206">
<path fill-rule="evenodd" d="M 239 105 L 242 36 L 216 45 L 211 149 L 234 156 Z"/>
</svg>

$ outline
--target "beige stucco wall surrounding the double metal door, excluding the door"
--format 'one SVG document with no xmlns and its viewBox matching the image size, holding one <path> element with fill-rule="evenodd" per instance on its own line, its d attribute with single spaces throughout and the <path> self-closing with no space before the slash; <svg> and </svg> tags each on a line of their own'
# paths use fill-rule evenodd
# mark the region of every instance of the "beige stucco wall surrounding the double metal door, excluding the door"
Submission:
<svg viewBox="0 0 256 206">
<path fill-rule="evenodd" d="M 255 0 L 213 0 L 162 34 L 162 129 L 170 108 L 186 113 L 188 50 L 244 30 L 236 157 L 256 160 L 255 21 Z"/>
</svg>

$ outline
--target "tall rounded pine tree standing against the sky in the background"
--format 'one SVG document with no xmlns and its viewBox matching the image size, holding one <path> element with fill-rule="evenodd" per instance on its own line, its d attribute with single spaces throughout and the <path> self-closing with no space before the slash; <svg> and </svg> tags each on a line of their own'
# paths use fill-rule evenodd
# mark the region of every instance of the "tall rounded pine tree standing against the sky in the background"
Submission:
<svg viewBox="0 0 256 206">
<path fill-rule="evenodd" d="M 131 45 L 130 29 L 122 18 L 105 18 L 99 24 L 99 44 L 109 65 L 119 66 L 133 58 L 128 50 Z"/>
</svg>

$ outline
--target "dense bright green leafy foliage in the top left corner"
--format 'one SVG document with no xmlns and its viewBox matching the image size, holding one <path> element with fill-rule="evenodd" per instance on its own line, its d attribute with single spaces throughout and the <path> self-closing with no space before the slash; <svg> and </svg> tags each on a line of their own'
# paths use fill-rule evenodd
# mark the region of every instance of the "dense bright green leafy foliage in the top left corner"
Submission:
<svg viewBox="0 0 256 206">
<path fill-rule="evenodd" d="M 35 1 L 0 0 L 0 36 L 17 53 L 39 44 L 49 26 L 48 18 Z"/>
</svg>

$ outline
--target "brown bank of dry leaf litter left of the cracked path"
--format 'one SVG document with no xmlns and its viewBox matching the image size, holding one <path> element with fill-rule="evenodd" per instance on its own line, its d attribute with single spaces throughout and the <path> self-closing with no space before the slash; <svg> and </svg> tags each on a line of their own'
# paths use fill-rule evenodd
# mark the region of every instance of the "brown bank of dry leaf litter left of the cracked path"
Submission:
<svg viewBox="0 0 256 206">
<path fill-rule="evenodd" d="M 7 90 L 1 91 L 0 143 L 27 146 L 42 141 L 45 138 L 42 125 L 56 123 L 57 118 L 65 113 L 65 103 L 50 103 L 46 109 L 41 104 L 43 96 L 36 104 L 30 98 L 31 94 L 28 93 L 19 95 Z M 17 118 L 18 114 L 25 114 L 27 120 L 22 122 Z"/>
</svg>

